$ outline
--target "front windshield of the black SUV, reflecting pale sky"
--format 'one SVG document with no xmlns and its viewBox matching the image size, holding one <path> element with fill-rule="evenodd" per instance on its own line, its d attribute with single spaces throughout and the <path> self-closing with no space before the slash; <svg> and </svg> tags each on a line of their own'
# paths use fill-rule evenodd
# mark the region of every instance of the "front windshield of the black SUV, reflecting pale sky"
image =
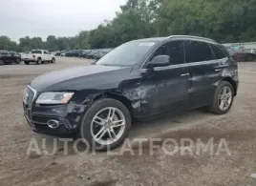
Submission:
<svg viewBox="0 0 256 186">
<path fill-rule="evenodd" d="M 125 43 L 104 55 L 96 62 L 96 65 L 133 66 L 137 64 L 154 45 L 154 42 L 143 41 L 131 41 Z"/>
</svg>

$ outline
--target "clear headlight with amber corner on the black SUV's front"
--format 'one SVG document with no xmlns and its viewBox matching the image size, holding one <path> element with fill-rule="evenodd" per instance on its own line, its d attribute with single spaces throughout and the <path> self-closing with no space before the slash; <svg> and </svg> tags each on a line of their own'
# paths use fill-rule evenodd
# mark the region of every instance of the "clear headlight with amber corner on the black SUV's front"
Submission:
<svg viewBox="0 0 256 186">
<path fill-rule="evenodd" d="M 38 104 L 67 104 L 74 93 L 41 93 L 36 99 Z"/>
</svg>

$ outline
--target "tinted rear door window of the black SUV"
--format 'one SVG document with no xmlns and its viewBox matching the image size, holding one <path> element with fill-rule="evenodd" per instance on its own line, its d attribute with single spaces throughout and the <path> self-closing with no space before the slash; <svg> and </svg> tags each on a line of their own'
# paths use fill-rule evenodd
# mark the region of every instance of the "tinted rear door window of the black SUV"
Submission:
<svg viewBox="0 0 256 186">
<path fill-rule="evenodd" d="M 186 63 L 212 60 L 212 52 L 207 43 L 200 41 L 185 42 Z"/>
</svg>

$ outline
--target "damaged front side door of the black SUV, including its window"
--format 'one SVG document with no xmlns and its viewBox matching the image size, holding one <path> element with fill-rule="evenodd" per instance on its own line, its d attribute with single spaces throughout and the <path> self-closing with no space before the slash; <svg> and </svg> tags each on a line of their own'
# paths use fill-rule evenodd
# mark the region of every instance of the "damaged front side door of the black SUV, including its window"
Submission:
<svg viewBox="0 0 256 186">
<path fill-rule="evenodd" d="M 184 42 L 175 40 L 164 44 L 153 54 L 151 60 L 157 55 L 169 55 L 170 64 L 154 67 L 154 70 L 149 71 L 142 79 L 142 84 L 155 86 L 157 92 L 153 103 L 141 102 L 142 111 L 158 114 L 187 110 L 190 102 L 190 74 L 188 65 L 184 63 Z"/>
</svg>

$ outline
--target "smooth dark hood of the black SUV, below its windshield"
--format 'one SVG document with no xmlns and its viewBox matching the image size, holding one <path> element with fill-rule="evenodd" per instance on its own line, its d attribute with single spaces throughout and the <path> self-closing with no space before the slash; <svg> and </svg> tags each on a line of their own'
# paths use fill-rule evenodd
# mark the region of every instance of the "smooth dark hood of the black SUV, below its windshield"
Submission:
<svg viewBox="0 0 256 186">
<path fill-rule="evenodd" d="M 131 67 L 77 66 L 40 75 L 32 80 L 31 87 L 37 92 L 94 89 L 124 79 L 131 70 Z"/>
</svg>

